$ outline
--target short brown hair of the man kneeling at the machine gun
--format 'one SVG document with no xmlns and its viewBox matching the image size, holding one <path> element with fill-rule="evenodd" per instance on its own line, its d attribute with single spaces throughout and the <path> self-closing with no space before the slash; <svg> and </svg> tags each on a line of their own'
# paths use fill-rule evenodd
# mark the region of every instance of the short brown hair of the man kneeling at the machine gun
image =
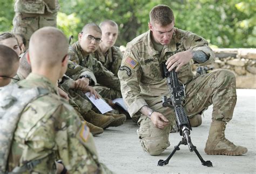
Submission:
<svg viewBox="0 0 256 174">
<path fill-rule="evenodd" d="M 157 5 L 150 11 L 150 23 L 166 26 L 174 21 L 172 9 L 167 5 Z"/>
</svg>

